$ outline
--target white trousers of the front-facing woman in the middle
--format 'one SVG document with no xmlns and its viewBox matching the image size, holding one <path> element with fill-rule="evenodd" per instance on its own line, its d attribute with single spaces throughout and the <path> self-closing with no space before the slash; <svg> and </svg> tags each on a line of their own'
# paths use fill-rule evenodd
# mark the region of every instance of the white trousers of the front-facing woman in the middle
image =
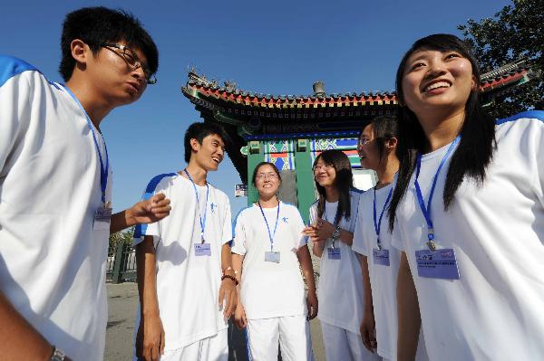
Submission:
<svg viewBox="0 0 544 361">
<path fill-rule="evenodd" d="M 254 361 L 312 361 L 310 323 L 306 315 L 248 319 L 249 355 Z"/>
</svg>

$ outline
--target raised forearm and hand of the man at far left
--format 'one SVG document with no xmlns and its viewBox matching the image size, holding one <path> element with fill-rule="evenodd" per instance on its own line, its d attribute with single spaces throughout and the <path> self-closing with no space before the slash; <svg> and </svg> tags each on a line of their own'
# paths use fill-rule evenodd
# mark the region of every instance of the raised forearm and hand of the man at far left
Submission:
<svg viewBox="0 0 544 361">
<path fill-rule="evenodd" d="M 170 199 L 163 194 L 138 202 L 129 209 L 112 214 L 110 233 L 116 233 L 140 223 L 154 223 L 170 214 Z"/>
</svg>

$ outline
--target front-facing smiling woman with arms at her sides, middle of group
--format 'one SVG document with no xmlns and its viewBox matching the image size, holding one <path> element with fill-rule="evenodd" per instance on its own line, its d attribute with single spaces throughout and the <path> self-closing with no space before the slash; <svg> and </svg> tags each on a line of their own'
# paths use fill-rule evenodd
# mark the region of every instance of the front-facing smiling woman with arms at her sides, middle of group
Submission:
<svg viewBox="0 0 544 361">
<path fill-rule="evenodd" d="M 317 315 L 317 297 L 304 222 L 295 206 L 277 199 L 281 177 L 275 165 L 258 164 L 252 182 L 258 200 L 238 214 L 232 242 L 240 298 L 235 322 L 248 328 L 255 360 L 277 361 L 278 343 L 284 360 L 312 360 L 308 318 Z"/>
</svg>

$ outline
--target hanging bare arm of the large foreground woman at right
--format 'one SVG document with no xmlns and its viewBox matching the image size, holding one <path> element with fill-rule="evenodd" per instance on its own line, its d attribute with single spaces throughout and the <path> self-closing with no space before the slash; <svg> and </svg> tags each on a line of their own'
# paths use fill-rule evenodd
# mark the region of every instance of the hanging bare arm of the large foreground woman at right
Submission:
<svg viewBox="0 0 544 361">
<path fill-rule="evenodd" d="M 412 272 L 405 252 L 401 256 L 397 277 L 397 305 L 399 319 L 397 358 L 399 361 L 413 361 L 422 319 Z"/>
</svg>

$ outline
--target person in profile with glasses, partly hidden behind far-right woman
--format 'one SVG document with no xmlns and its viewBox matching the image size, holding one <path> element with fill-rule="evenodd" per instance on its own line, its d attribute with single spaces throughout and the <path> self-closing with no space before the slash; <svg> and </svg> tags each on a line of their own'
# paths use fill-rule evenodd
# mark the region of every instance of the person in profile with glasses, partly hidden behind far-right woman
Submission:
<svg viewBox="0 0 544 361">
<path fill-rule="evenodd" d="M 394 116 L 374 118 L 363 128 L 357 152 L 361 166 L 376 172 L 378 183 L 364 192 L 352 249 L 361 255 L 364 283 L 364 315 L 361 337 L 364 346 L 374 349 L 384 361 L 396 359 L 397 307 L 396 281 L 401 251 L 391 245 L 387 232 L 387 208 L 393 195 L 393 180 L 399 169 L 396 156 L 399 121 Z M 418 343 L 418 361 L 427 360 L 423 332 Z"/>
</svg>

